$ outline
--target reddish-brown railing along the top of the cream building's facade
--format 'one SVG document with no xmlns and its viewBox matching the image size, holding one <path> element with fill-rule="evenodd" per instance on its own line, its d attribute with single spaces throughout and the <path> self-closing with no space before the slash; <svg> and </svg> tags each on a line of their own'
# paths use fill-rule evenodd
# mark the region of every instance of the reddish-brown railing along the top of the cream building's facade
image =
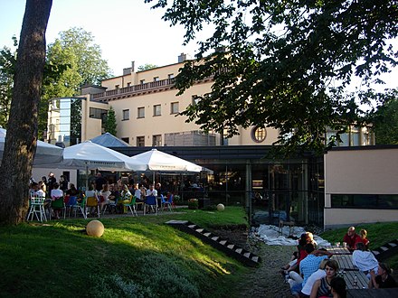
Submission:
<svg viewBox="0 0 398 298">
<path fill-rule="evenodd" d="M 128 86 L 124 88 L 113 89 L 101 93 L 96 93 L 92 95 L 93 99 L 100 100 L 102 98 L 114 97 L 118 95 L 127 95 L 133 93 L 139 93 L 145 90 L 151 90 L 155 88 L 162 87 L 172 87 L 175 84 L 175 78 L 173 79 L 160 79 L 149 83 Z"/>
</svg>

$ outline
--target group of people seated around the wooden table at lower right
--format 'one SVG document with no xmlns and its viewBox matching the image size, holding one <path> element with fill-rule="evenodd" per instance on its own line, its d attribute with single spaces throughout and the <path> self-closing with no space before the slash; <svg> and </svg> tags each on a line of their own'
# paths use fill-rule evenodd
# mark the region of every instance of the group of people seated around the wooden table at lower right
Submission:
<svg viewBox="0 0 398 298">
<path fill-rule="evenodd" d="M 357 235 L 354 227 L 348 228 L 343 241 L 353 251 L 353 264 L 368 276 L 369 288 L 397 287 L 389 267 L 367 251 L 369 240 L 365 229 Z M 297 251 L 280 270 L 295 297 L 346 297 L 346 281 L 337 275 L 339 266 L 330 258 L 332 255 L 325 248 L 317 249 L 312 233 L 301 235 Z"/>
</svg>

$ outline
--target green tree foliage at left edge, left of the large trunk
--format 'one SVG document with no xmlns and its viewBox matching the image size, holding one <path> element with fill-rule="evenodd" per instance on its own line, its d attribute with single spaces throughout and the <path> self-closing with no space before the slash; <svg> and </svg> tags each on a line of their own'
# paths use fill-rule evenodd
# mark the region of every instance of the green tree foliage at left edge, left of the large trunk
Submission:
<svg viewBox="0 0 398 298">
<path fill-rule="evenodd" d="M 17 45 L 13 37 L 14 46 Z M 7 127 L 11 107 L 11 97 L 14 86 L 14 66 L 16 51 L 4 47 L 0 51 L 0 126 Z"/>
</svg>

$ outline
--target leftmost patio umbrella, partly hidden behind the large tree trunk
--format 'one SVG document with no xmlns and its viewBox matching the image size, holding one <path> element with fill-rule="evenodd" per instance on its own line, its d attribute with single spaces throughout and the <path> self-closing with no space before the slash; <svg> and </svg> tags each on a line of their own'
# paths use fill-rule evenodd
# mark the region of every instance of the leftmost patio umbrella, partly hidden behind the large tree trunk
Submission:
<svg viewBox="0 0 398 298">
<path fill-rule="evenodd" d="M 5 135 L 7 131 L 0 128 L 0 162 L 5 151 Z M 34 155 L 33 166 L 40 167 L 49 163 L 61 163 L 63 149 L 53 144 L 37 141 L 36 154 Z"/>
</svg>

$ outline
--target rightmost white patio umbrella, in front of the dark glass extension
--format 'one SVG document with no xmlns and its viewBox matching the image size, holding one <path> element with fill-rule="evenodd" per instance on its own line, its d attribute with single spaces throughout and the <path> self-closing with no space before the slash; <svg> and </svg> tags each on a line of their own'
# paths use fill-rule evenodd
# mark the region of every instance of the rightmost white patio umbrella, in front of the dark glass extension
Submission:
<svg viewBox="0 0 398 298">
<path fill-rule="evenodd" d="M 134 155 L 130 159 L 135 163 L 135 171 L 201 172 L 206 170 L 200 165 L 171 154 L 165 154 L 157 149 Z"/>
</svg>

